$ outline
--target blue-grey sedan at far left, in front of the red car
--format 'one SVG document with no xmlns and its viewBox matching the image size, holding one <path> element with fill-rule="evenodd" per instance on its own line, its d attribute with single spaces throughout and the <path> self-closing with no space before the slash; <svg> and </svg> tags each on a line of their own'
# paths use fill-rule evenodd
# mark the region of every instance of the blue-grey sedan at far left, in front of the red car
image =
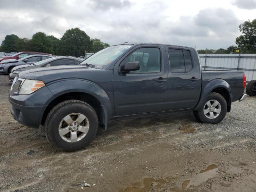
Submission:
<svg viewBox="0 0 256 192">
<path fill-rule="evenodd" d="M 29 55 L 19 60 L 16 59 L 6 59 L 0 62 L 0 73 L 9 74 L 15 66 L 24 64 L 34 64 L 38 61 L 42 61 L 51 58 L 50 55 Z"/>
</svg>

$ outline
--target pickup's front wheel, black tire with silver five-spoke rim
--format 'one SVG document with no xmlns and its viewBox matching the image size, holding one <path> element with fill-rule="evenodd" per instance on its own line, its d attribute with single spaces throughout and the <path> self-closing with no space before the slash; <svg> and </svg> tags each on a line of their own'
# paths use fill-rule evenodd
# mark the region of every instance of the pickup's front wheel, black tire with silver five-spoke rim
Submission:
<svg viewBox="0 0 256 192">
<path fill-rule="evenodd" d="M 81 123 L 78 120 L 80 114 L 85 117 Z M 66 118 L 67 116 L 71 119 Z M 68 120 L 65 121 L 64 118 Z M 73 122 L 68 124 L 71 120 Z M 76 121 L 78 122 L 77 124 Z M 84 132 L 80 132 L 78 128 L 77 130 L 73 130 L 73 128 L 76 129 L 76 126 L 78 128 L 87 128 L 87 130 L 83 130 Z M 44 130 L 47 140 L 56 149 L 66 152 L 80 150 L 85 148 L 96 135 L 98 130 L 98 116 L 95 110 L 87 103 L 80 100 L 67 100 L 61 102 L 49 112 Z M 68 132 L 60 136 L 60 130 Z M 72 137 L 73 134 L 77 136 Z"/>
</svg>

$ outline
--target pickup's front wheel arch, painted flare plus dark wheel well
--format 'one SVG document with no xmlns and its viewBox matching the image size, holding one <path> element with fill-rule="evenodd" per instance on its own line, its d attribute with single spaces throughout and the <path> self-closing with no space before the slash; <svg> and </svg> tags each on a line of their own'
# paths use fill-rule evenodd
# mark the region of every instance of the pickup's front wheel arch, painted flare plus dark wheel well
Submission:
<svg viewBox="0 0 256 192">
<path fill-rule="evenodd" d="M 54 106 L 65 100 L 76 99 L 92 106 L 96 111 L 100 124 L 105 126 L 105 130 L 107 129 L 112 108 L 110 98 L 100 86 L 84 80 L 58 81 L 46 86 L 52 92 L 53 97 L 46 103 L 47 107 L 41 120 L 42 125 L 44 125 L 48 113 Z"/>
</svg>

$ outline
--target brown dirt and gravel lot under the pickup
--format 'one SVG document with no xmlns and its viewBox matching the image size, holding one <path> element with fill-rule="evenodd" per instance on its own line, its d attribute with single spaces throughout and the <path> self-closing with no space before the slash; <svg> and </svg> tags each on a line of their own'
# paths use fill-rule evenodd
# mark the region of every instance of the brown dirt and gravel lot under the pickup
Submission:
<svg viewBox="0 0 256 192">
<path fill-rule="evenodd" d="M 255 192 L 256 97 L 217 125 L 192 112 L 110 123 L 85 150 L 52 148 L 9 112 L 0 75 L 0 191 Z M 91 187 L 72 186 L 85 181 Z"/>
</svg>

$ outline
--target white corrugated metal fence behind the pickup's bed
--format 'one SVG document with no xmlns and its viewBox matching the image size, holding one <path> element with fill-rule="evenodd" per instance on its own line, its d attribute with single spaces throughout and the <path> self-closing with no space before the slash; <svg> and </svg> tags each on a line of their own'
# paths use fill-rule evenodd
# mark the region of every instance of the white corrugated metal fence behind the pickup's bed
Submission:
<svg viewBox="0 0 256 192">
<path fill-rule="evenodd" d="M 202 69 L 242 70 L 246 81 L 256 80 L 256 54 L 199 54 Z"/>
</svg>

